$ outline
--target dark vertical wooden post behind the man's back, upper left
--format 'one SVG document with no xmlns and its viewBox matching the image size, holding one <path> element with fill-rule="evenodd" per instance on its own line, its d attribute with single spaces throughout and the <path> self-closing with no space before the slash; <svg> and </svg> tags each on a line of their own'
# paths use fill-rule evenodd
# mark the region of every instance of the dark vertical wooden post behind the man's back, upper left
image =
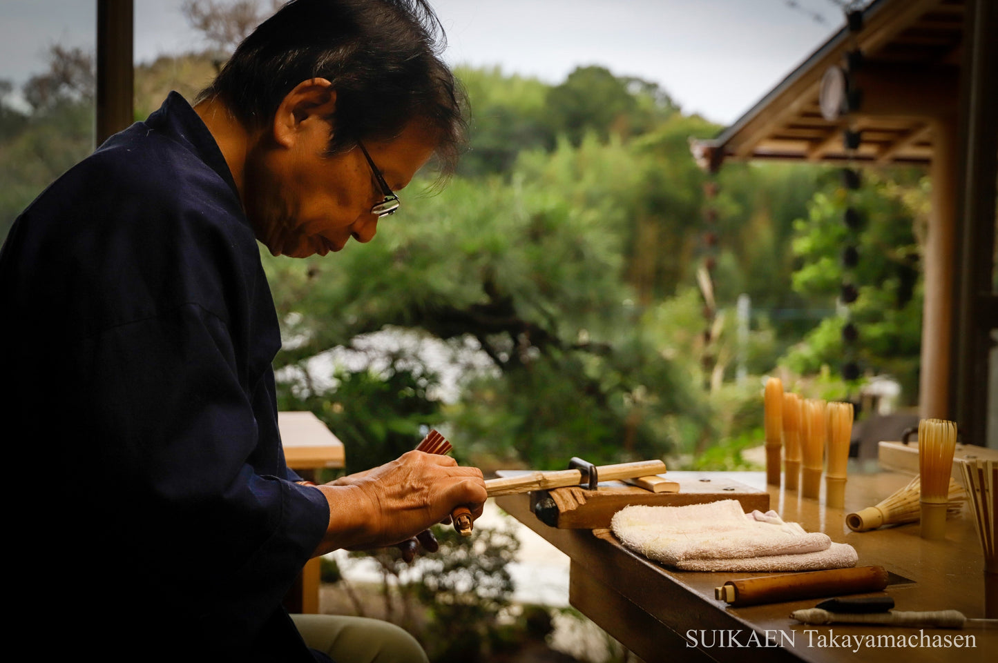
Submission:
<svg viewBox="0 0 998 663">
<path fill-rule="evenodd" d="M 98 146 L 135 121 L 134 24 L 133 0 L 98 0 L 95 130 Z"/>
</svg>

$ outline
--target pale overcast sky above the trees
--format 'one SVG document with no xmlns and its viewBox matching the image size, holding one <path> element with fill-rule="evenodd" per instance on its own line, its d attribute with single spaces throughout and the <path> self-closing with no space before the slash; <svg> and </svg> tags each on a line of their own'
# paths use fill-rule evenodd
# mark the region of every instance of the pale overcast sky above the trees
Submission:
<svg viewBox="0 0 998 663">
<path fill-rule="evenodd" d="M 266 2 L 266 0 L 263 0 Z M 843 23 L 842 0 L 431 0 L 446 60 L 557 84 L 576 67 L 658 83 L 730 125 Z M 182 0 L 135 0 L 137 62 L 202 43 Z M 0 0 L 0 79 L 45 69 L 52 44 L 93 48 L 94 0 Z"/>
</svg>

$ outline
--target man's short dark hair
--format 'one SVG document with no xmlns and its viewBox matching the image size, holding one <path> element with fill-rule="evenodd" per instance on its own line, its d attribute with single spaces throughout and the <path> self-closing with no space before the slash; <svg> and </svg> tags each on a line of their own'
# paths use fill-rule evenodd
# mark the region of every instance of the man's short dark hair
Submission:
<svg viewBox="0 0 998 663">
<path fill-rule="evenodd" d="M 465 120 L 463 95 L 440 59 L 445 44 L 425 0 L 291 0 L 239 45 L 198 100 L 218 98 L 258 129 L 294 86 L 328 79 L 336 91 L 330 154 L 358 140 L 391 140 L 417 120 L 437 133 L 437 158 L 451 172 Z"/>
</svg>

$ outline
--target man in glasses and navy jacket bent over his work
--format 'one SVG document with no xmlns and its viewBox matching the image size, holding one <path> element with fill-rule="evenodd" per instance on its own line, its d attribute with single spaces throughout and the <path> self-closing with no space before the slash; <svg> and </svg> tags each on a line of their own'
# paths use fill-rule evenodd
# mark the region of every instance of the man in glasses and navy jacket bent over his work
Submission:
<svg viewBox="0 0 998 663">
<path fill-rule="evenodd" d="M 319 487 L 285 467 L 256 244 L 369 241 L 431 156 L 453 166 L 463 124 L 438 32 L 423 0 L 290 2 L 194 108 L 171 94 L 15 222 L 7 552 L 31 580 L 9 595 L 47 633 L 33 659 L 329 660 L 281 607 L 309 557 L 432 549 L 425 530 L 454 507 L 481 514 L 481 472 L 448 457 Z M 340 663 L 425 660 L 400 629 L 355 627 L 317 637 L 371 650 L 333 648 Z"/>
</svg>

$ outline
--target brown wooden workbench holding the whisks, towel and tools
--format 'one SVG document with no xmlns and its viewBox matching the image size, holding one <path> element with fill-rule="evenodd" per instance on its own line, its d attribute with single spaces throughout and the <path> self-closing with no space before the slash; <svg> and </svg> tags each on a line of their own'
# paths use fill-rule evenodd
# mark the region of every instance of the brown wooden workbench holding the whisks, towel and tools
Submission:
<svg viewBox="0 0 998 663">
<path fill-rule="evenodd" d="M 855 470 L 855 469 L 852 469 Z M 764 473 L 669 473 L 667 477 L 724 476 L 768 490 L 771 508 L 807 531 L 824 531 L 832 540 L 849 543 L 858 565 L 881 565 L 892 575 L 886 593 L 898 610 L 955 609 L 970 618 L 984 617 L 983 553 L 969 507 L 948 521 L 946 540 L 919 536 L 918 524 L 853 532 L 845 514 L 869 506 L 904 486 L 910 477 L 853 472 L 846 485 L 845 509 L 825 508 L 775 487 L 765 487 Z M 715 599 L 714 588 L 727 580 L 762 573 L 674 571 L 624 548 L 608 529 L 558 529 L 530 510 L 530 496 L 497 497 L 496 503 L 539 533 L 571 559 L 569 600 L 573 606 L 648 663 L 657 661 L 887 661 L 904 663 L 995 660 L 998 629 L 899 629 L 835 624 L 807 626 L 789 619 L 798 608 L 821 599 L 735 608 Z M 895 577 L 897 576 L 897 577 Z M 994 609 L 992 607 L 992 609 Z M 992 615 L 998 616 L 998 615 Z M 844 635 L 876 637 L 973 636 L 975 648 L 931 646 L 843 646 Z M 830 640 L 833 636 L 835 639 Z M 755 647 L 753 642 L 772 644 Z M 881 640 L 881 643 L 887 641 Z M 969 641 L 963 641 L 969 644 Z M 832 646 L 832 645 L 836 646 Z M 740 646 L 749 645 L 749 646 Z M 823 646 L 822 646 L 823 645 Z M 986 655 L 986 651 L 991 654 Z"/>
</svg>

